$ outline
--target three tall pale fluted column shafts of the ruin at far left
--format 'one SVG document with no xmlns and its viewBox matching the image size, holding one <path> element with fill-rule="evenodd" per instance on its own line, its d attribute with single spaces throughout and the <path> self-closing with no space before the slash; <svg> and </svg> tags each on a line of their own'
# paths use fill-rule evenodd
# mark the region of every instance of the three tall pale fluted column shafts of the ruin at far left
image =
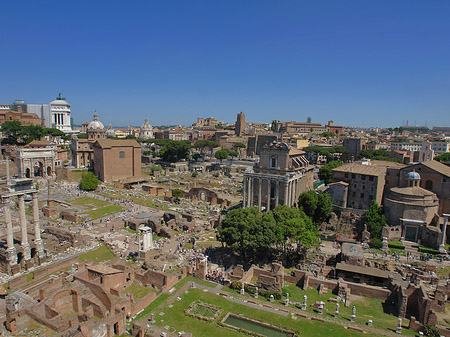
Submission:
<svg viewBox="0 0 450 337">
<path fill-rule="evenodd" d="M 45 256 L 44 246 L 41 239 L 41 227 L 39 223 L 39 204 L 37 191 L 32 193 L 32 206 L 33 206 L 33 220 L 34 225 L 34 243 L 36 245 L 36 251 L 39 258 Z M 11 209 L 10 209 L 10 197 L 6 196 L 4 199 L 4 217 L 6 222 L 6 243 L 7 243 L 7 260 L 10 267 L 17 265 L 17 251 L 14 247 L 14 234 L 13 225 L 11 221 Z M 20 222 L 20 233 L 21 233 L 21 247 L 23 249 L 23 257 L 25 261 L 31 259 L 30 244 L 28 243 L 28 233 L 27 233 L 27 219 L 25 214 L 25 200 L 24 194 L 18 195 L 19 200 L 19 222 Z"/>
</svg>

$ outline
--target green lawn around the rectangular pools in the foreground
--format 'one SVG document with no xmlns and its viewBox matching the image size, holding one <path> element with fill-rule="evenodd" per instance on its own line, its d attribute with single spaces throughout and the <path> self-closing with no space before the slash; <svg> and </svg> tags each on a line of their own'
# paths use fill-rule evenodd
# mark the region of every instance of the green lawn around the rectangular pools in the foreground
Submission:
<svg viewBox="0 0 450 337">
<path fill-rule="evenodd" d="M 175 285 L 178 290 L 186 282 L 195 281 L 198 284 L 205 284 L 209 287 L 214 287 L 216 284 L 197 280 L 191 277 L 186 277 Z M 223 290 L 226 290 L 224 288 Z M 303 295 L 308 296 L 308 304 L 315 301 L 326 302 L 330 297 L 336 297 L 328 292 L 324 295 L 318 295 L 317 290 L 308 289 L 306 291 L 301 290 L 294 284 L 287 284 L 284 288 L 290 294 L 291 301 L 301 302 L 303 300 Z M 223 337 L 238 337 L 243 336 L 242 333 L 238 331 L 228 329 L 218 325 L 227 312 L 232 312 L 235 314 L 242 314 L 246 317 L 260 320 L 263 322 L 269 322 L 275 326 L 282 327 L 285 329 L 293 330 L 298 336 L 326 336 L 326 337 L 347 337 L 347 336 L 358 336 L 363 334 L 347 330 L 343 325 L 350 324 L 351 307 L 345 308 L 343 305 L 340 307 L 340 317 L 339 322 L 342 324 L 334 324 L 333 322 L 319 322 L 311 321 L 310 319 L 305 319 L 298 317 L 297 320 L 293 320 L 290 316 L 281 316 L 273 312 L 268 312 L 265 310 L 259 310 L 255 308 L 248 307 L 246 305 L 228 301 L 222 296 L 212 294 L 210 292 L 204 292 L 203 289 L 199 288 L 188 288 L 188 294 L 179 294 L 181 297 L 180 301 L 174 300 L 175 294 L 161 294 L 155 301 L 153 301 L 144 311 L 139 314 L 136 319 L 142 317 L 150 317 L 151 313 L 155 314 L 156 325 L 164 327 L 166 325 L 176 328 L 177 331 L 188 331 L 192 332 L 194 336 L 223 336 Z M 230 290 L 229 290 L 230 291 Z M 234 290 L 231 293 L 236 292 Z M 178 296 L 178 295 L 177 295 Z M 246 296 L 251 296 L 246 294 Z M 237 296 L 236 296 L 237 297 Z M 170 298 L 170 301 L 167 301 Z M 220 307 L 223 312 L 219 315 L 218 319 L 213 322 L 206 322 L 197 318 L 193 318 L 185 315 L 184 311 L 193 302 L 201 301 L 204 303 L 212 304 L 214 306 Z M 169 307 L 169 303 L 173 305 L 172 308 Z M 395 330 L 397 323 L 397 317 L 383 313 L 382 301 L 370 298 L 360 298 L 352 303 L 352 306 L 356 307 L 356 323 L 352 325 L 359 325 L 364 328 L 368 319 L 373 320 L 374 328 L 380 328 L 385 330 L 387 333 L 392 333 Z M 326 302 L 325 304 L 325 314 L 323 318 L 335 320 L 334 315 L 335 304 Z M 201 308 L 199 309 L 201 310 Z M 308 307 L 308 312 L 313 313 L 314 311 Z M 164 315 L 159 315 L 160 312 L 164 312 Z M 300 310 L 298 310 L 300 312 Z M 318 315 L 317 315 L 318 316 Z M 403 326 L 407 326 L 407 320 L 403 321 Z M 407 329 L 403 329 L 402 335 L 413 336 L 415 333 Z M 368 332 L 364 336 L 378 336 L 378 334 Z"/>
</svg>

